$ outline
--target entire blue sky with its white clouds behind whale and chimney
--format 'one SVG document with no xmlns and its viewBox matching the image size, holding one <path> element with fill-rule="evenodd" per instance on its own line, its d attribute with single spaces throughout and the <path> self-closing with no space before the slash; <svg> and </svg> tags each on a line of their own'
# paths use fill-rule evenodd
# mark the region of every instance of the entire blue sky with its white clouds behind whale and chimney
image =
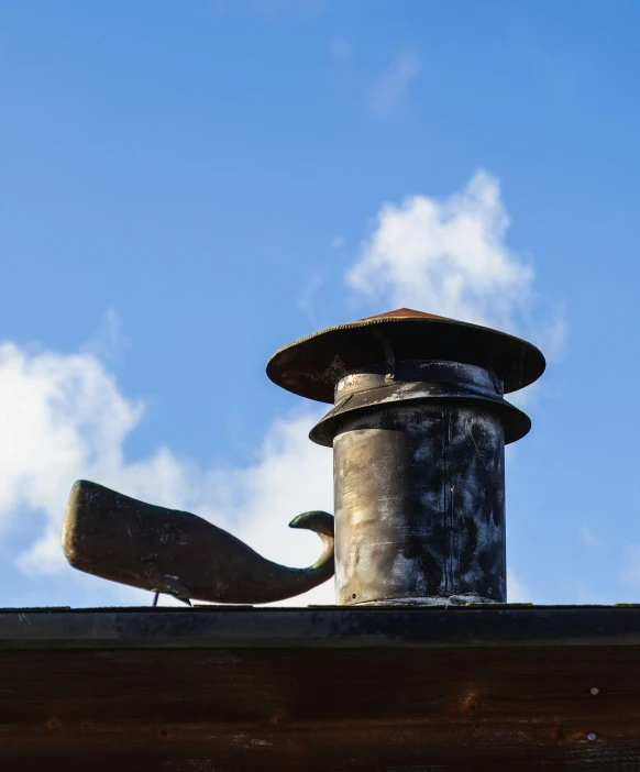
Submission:
<svg viewBox="0 0 640 772">
<path fill-rule="evenodd" d="M 508 455 L 511 597 L 640 599 L 639 24 L 624 1 L 0 2 L 0 604 L 146 603 L 60 558 L 80 476 L 315 560 L 286 525 L 331 509 L 322 408 L 264 366 L 397 306 L 548 354 Z"/>
</svg>

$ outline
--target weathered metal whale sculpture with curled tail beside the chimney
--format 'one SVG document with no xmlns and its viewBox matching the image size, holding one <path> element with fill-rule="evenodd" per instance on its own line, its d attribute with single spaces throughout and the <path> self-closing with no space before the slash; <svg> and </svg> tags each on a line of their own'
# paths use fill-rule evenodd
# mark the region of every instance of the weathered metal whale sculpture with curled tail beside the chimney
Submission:
<svg viewBox="0 0 640 772">
<path fill-rule="evenodd" d="M 197 515 L 139 501 L 88 481 L 75 483 L 63 550 L 80 571 L 121 584 L 227 604 L 263 604 L 300 595 L 333 576 L 333 517 L 298 515 L 289 523 L 318 533 L 320 559 L 308 569 L 266 560 Z"/>
</svg>

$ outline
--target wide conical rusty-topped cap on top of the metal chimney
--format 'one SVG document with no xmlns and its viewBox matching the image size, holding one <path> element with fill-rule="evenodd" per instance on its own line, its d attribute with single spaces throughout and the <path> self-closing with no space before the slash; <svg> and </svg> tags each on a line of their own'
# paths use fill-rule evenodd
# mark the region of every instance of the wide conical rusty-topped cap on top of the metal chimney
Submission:
<svg viewBox="0 0 640 772">
<path fill-rule="evenodd" d="M 271 357 L 266 372 L 288 391 L 333 404 L 340 378 L 358 367 L 384 365 L 389 350 L 396 361 L 444 360 L 490 368 L 505 393 L 529 386 L 545 367 L 534 345 L 506 332 L 399 308 L 294 341 Z"/>
</svg>

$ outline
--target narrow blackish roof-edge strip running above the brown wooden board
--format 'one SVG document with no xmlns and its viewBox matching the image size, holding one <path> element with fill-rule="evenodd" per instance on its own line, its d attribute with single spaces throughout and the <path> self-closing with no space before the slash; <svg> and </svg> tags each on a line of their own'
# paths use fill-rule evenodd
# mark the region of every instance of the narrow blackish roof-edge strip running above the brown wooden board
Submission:
<svg viewBox="0 0 640 772">
<path fill-rule="evenodd" d="M 406 652 L 415 648 L 504 651 L 506 647 L 611 652 L 628 648 L 636 652 L 640 670 L 640 605 L 0 608 L 0 651 L 4 652 L 96 648 Z M 615 659 L 613 653 L 609 660 Z M 477 675 L 467 673 L 472 679 Z M 633 687 L 640 692 L 640 679 Z M 640 714 L 640 694 L 636 707 Z"/>
</svg>

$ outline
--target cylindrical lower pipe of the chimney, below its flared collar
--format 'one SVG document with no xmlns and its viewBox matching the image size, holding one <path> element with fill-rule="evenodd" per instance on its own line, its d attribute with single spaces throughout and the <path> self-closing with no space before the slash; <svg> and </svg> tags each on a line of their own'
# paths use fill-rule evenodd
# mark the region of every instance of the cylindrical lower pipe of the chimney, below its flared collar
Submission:
<svg viewBox="0 0 640 772">
<path fill-rule="evenodd" d="M 504 429 L 482 409 L 383 405 L 333 441 L 336 603 L 506 599 Z"/>
</svg>

